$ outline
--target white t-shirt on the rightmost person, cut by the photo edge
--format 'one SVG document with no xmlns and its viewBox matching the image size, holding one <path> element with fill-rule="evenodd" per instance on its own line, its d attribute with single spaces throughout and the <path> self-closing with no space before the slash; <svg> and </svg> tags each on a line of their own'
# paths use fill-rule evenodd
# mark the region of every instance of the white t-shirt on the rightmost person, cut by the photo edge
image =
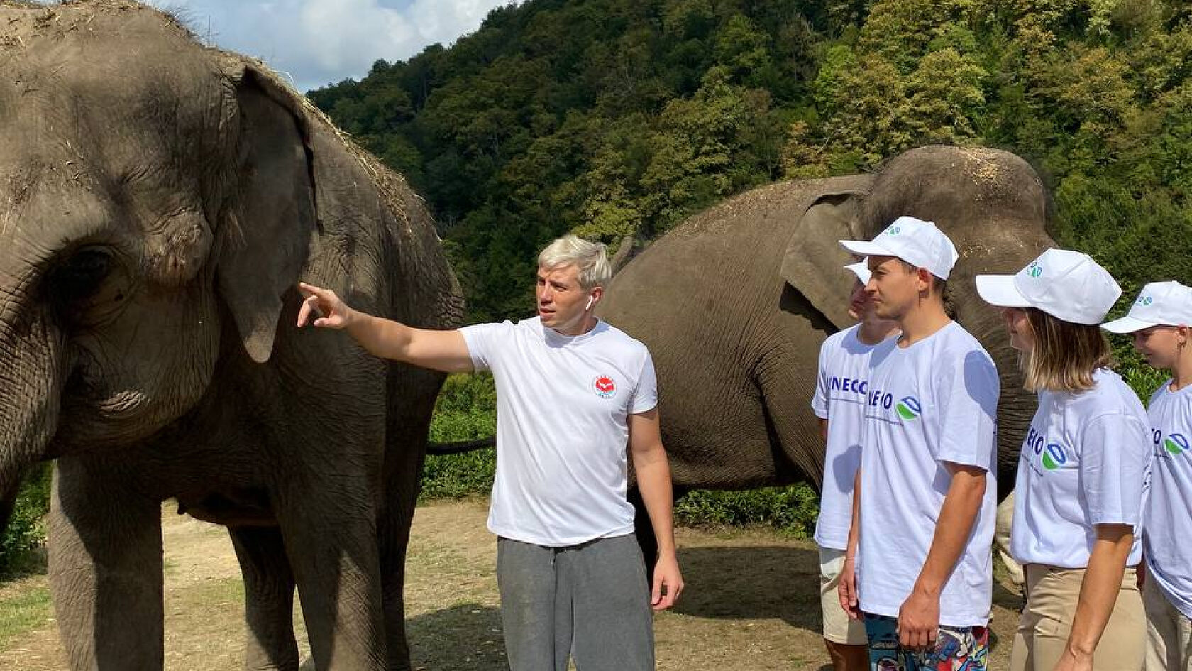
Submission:
<svg viewBox="0 0 1192 671">
<path fill-rule="evenodd" d="M 1150 491 L 1143 507 L 1147 579 L 1192 617 L 1192 387 L 1150 396 Z"/>
</svg>

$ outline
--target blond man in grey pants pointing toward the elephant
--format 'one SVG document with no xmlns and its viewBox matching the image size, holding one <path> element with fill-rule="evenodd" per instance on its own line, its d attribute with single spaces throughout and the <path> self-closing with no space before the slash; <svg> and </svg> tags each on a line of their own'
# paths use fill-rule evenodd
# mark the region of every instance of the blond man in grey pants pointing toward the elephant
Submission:
<svg viewBox="0 0 1192 671">
<path fill-rule="evenodd" d="M 598 320 L 604 246 L 566 235 L 538 258 L 538 316 L 423 331 L 302 284 L 298 326 L 344 330 L 375 356 L 443 373 L 491 370 L 497 474 L 489 530 L 513 671 L 654 667 L 654 610 L 683 589 L 671 480 L 645 345 Z M 653 585 L 626 498 L 628 455 L 658 556 Z M 647 591 L 648 590 L 648 591 Z"/>
</svg>

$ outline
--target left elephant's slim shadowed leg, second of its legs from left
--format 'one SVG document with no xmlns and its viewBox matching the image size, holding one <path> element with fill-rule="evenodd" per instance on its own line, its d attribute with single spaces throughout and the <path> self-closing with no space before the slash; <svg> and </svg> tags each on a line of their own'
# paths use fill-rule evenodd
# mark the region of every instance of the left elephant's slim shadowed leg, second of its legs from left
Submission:
<svg viewBox="0 0 1192 671">
<path fill-rule="evenodd" d="M 249 671 L 297 671 L 294 640 L 294 575 L 281 530 L 275 527 L 228 529 L 244 574 Z"/>
</svg>

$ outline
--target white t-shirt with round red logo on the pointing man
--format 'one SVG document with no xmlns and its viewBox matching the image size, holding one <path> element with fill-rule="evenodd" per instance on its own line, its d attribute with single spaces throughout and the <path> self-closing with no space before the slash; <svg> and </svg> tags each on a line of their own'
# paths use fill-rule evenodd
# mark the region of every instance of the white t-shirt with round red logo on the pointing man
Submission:
<svg viewBox="0 0 1192 671">
<path fill-rule="evenodd" d="M 604 321 L 572 337 L 536 316 L 460 332 L 497 384 L 489 530 L 548 547 L 631 534 L 628 415 L 658 405 L 646 346 Z"/>
</svg>

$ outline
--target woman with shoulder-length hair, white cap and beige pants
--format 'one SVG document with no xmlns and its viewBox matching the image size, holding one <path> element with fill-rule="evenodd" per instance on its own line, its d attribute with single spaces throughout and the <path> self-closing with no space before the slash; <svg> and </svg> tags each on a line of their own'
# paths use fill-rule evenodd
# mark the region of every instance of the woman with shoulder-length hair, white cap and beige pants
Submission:
<svg viewBox="0 0 1192 671">
<path fill-rule="evenodd" d="M 1011 553 L 1025 568 L 1026 605 L 1011 669 L 1136 671 L 1144 616 L 1132 567 L 1142 559 L 1149 427 L 1107 368 L 1098 328 L 1122 290 L 1067 250 L 1047 250 L 1017 275 L 979 275 L 976 289 L 1002 308 L 1024 386 L 1038 394 L 1014 487 Z"/>
</svg>

